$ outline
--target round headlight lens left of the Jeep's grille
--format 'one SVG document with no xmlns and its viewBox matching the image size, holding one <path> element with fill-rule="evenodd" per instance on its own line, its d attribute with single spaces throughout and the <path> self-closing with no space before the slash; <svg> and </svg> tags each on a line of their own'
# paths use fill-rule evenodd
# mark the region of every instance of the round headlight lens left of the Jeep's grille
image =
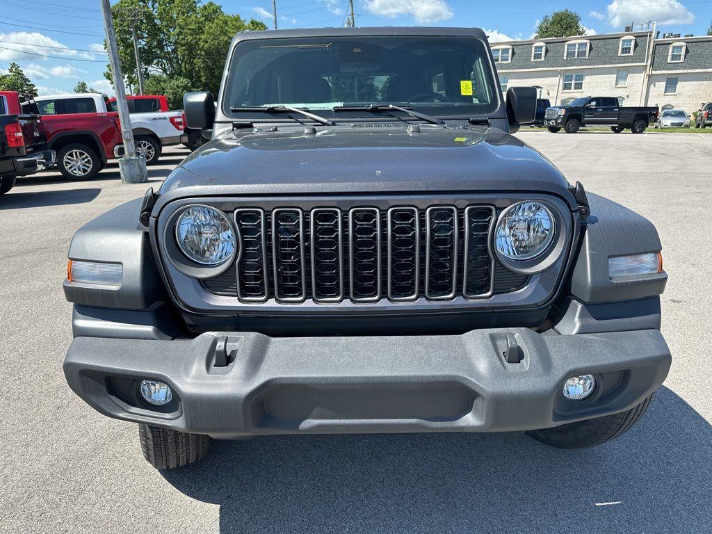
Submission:
<svg viewBox="0 0 712 534">
<path fill-rule="evenodd" d="M 187 258 L 219 265 L 233 256 L 235 233 L 227 216 L 208 206 L 190 206 L 176 221 L 176 241 Z"/>
</svg>

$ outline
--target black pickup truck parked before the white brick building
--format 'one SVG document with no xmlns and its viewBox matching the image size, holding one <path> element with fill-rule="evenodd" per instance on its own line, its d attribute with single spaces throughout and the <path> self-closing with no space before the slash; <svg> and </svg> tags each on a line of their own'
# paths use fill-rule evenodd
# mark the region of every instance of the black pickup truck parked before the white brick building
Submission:
<svg viewBox="0 0 712 534">
<path fill-rule="evenodd" d="M 586 96 L 548 108 L 544 124 L 552 133 L 562 128 L 567 133 L 576 133 L 582 126 L 610 126 L 615 133 L 630 128 L 633 133 L 643 133 L 656 121 L 658 113 L 654 106 L 624 108 L 615 97 Z"/>
</svg>

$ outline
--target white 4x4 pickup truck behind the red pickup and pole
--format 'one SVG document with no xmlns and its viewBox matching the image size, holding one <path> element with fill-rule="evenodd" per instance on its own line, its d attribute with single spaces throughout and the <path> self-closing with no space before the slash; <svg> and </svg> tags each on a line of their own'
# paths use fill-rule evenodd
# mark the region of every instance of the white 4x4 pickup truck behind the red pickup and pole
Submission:
<svg viewBox="0 0 712 534">
<path fill-rule="evenodd" d="M 177 145 L 184 130 L 182 111 L 165 111 L 146 108 L 129 97 L 131 127 L 136 141 L 136 150 L 143 154 L 146 163 L 155 164 L 163 147 Z M 135 97 L 140 99 L 141 97 Z M 156 97 L 155 97 L 156 98 Z M 157 97 L 158 99 L 164 97 Z M 73 113 L 115 112 L 115 99 L 99 93 L 76 93 L 73 95 L 45 95 L 35 97 L 41 115 L 68 115 Z M 132 109 L 133 108 L 133 109 Z M 117 154 L 116 156 L 121 156 Z"/>
</svg>

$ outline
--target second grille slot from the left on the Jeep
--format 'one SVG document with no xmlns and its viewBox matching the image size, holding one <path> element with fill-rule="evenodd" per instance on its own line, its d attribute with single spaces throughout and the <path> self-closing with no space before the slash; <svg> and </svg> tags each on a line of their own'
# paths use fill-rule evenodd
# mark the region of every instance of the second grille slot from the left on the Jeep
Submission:
<svg viewBox="0 0 712 534">
<path fill-rule="evenodd" d="M 275 296 L 282 302 L 300 302 L 306 298 L 302 210 L 275 209 L 271 237 Z"/>
</svg>

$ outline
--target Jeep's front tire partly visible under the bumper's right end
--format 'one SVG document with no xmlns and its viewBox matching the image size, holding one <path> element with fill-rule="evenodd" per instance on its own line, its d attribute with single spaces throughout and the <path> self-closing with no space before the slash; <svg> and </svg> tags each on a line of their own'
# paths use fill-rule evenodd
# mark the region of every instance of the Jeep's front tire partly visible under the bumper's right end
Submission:
<svg viewBox="0 0 712 534">
<path fill-rule="evenodd" d="M 559 449 L 586 449 L 600 445 L 609 439 L 617 438 L 636 424 L 648 409 L 652 398 L 651 395 L 627 412 L 562 424 L 553 429 L 532 430 L 527 434 L 543 444 Z"/>
</svg>

